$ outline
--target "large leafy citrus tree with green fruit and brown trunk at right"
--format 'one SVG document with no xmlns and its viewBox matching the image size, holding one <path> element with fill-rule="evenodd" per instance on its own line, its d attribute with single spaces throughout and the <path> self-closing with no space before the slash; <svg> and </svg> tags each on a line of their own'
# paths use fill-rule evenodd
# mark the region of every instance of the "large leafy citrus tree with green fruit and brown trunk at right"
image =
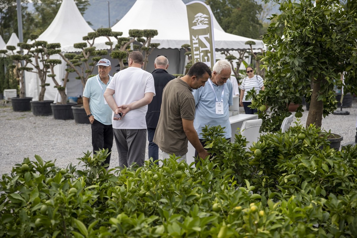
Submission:
<svg viewBox="0 0 357 238">
<path fill-rule="evenodd" d="M 265 91 L 248 97 L 254 107 L 270 107 L 271 113 L 259 113 L 263 131 L 278 130 L 290 115 L 287 105 L 301 103 L 303 96 L 310 101 L 306 125 L 321 127 L 322 116 L 337 108 L 333 87 L 342 86 L 341 74 L 345 92 L 357 93 L 357 2 L 347 0 L 342 7 L 337 0 L 319 0 L 316 6 L 310 0 L 272 1 L 280 4 L 281 14 L 271 17 L 276 23 L 263 36 L 269 45 L 262 59 L 262 68 L 269 69 Z"/>
</svg>

